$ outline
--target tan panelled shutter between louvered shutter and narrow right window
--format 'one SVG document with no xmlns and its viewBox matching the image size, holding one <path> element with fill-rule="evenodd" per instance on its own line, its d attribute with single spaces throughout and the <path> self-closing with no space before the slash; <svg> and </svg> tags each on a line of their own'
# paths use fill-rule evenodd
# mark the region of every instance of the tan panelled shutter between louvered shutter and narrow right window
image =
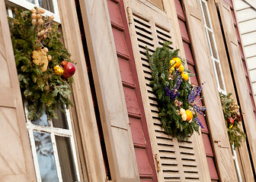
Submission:
<svg viewBox="0 0 256 182">
<path fill-rule="evenodd" d="M 219 168 L 220 180 L 235 181 L 235 166 L 232 161 L 232 152 L 226 132 L 226 124 L 222 114 L 222 106 L 213 74 L 213 63 L 206 41 L 203 27 L 203 17 L 200 11 L 200 2 L 194 0 L 184 1 L 187 16 L 187 25 L 194 47 L 194 56 L 197 60 L 197 71 L 200 80 L 206 80 L 203 87 L 204 103 L 213 140 L 213 149 L 216 154 L 216 163 Z"/>
</svg>

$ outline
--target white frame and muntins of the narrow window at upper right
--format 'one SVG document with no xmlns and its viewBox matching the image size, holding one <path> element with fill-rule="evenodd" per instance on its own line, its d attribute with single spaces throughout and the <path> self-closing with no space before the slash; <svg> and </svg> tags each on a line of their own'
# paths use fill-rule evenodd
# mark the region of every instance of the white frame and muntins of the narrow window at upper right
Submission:
<svg viewBox="0 0 256 182">
<path fill-rule="evenodd" d="M 203 14 L 203 24 L 204 24 L 204 27 L 205 27 L 205 30 L 206 30 L 206 36 L 207 36 L 207 41 L 208 41 L 208 45 L 209 45 L 209 48 L 210 48 L 211 58 L 212 58 L 212 61 L 213 61 L 214 74 L 216 76 L 216 82 L 217 82 L 218 90 L 219 90 L 220 93 L 223 93 L 223 94 L 226 95 L 227 94 L 226 93 L 226 86 L 225 86 L 225 81 L 224 81 L 224 78 L 223 78 L 222 67 L 221 67 L 221 64 L 220 64 L 220 61 L 219 61 L 219 53 L 218 53 L 218 49 L 217 49 L 217 46 L 216 46 L 216 39 L 215 39 L 215 36 L 214 36 L 214 33 L 213 33 L 213 28 L 212 28 L 213 25 L 212 25 L 212 20 L 210 18 L 209 8 L 208 8 L 206 0 L 199 0 L 199 1 L 200 1 L 200 8 L 201 8 L 201 11 L 202 11 L 202 14 Z M 203 11 L 202 2 L 204 2 L 205 5 L 206 5 L 206 12 Z M 209 17 L 210 27 L 208 27 L 207 24 L 206 24 L 206 17 L 205 17 L 203 12 L 206 13 L 207 16 Z M 214 48 L 212 47 L 212 44 L 210 42 L 210 36 L 209 36 L 208 31 L 210 31 L 210 33 L 213 33 L 213 46 L 214 46 Z M 214 58 L 214 56 L 213 56 L 213 49 L 216 50 L 216 57 L 217 58 Z M 217 73 L 215 61 L 219 64 L 220 75 L 218 75 L 218 73 Z M 222 89 L 220 87 L 219 76 L 220 76 L 220 80 L 222 80 L 224 89 Z"/>
</svg>

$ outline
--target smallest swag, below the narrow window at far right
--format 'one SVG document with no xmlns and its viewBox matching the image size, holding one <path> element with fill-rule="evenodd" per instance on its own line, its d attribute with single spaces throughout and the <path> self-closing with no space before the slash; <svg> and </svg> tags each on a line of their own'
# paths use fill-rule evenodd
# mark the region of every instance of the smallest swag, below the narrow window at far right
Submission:
<svg viewBox="0 0 256 182">
<path fill-rule="evenodd" d="M 239 112 L 239 106 L 232 98 L 232 93 L 228 95 L 219 93 L 222 103 L 222 111 L 226 121 L 226 128 L 229 135 L 229 143 L 234 148 L 241 145 L 242 140 L 245 140 L 245 133 L 240 130 L 239 125 L 242 121 L 242 114 Z"/>
</svg>

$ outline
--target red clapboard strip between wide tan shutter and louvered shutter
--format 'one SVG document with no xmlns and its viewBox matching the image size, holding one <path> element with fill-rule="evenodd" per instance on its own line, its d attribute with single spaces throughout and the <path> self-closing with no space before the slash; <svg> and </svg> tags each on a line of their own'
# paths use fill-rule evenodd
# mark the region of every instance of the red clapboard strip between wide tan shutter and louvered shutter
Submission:
<svg viewBox="0 0 256 182">
<path fill-rule="evenodd" d="M 126 98 L 133 144 L 141 181 L 156 181 L 155 164 L 149 140 L 149 131 L 139 91 L 135 60 L 130 41 L 123 0 L 107 0 L 110 21 L 117 49 L 117 58 Z"/>
</svg>

